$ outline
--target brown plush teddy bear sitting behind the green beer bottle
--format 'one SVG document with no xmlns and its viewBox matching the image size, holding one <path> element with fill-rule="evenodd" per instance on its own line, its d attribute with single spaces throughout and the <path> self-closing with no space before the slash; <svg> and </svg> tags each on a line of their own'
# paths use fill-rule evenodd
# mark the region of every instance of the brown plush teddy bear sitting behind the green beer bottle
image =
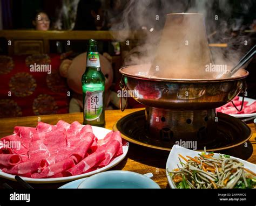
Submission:
<svg viewBox="0 0 256 206">
<path fill-rule="evenodd" d="M 110 90 L 113 82 L 113 69 L 111 56 L 107 53 L 99 54 L 100 69 L 105 76 L 105 109 L 113 109 L 110 103 L 119 108 L 117 93 Z M 72 90 L 72 98 L 69 104 L 69 113 L 83 111 L 82 75 L 86 68 L 86 53 L 82 53 L 73 60 L 65 59 L 59 67 L 59 73 L 65 77 L 69 88 Z"/>
</svg>

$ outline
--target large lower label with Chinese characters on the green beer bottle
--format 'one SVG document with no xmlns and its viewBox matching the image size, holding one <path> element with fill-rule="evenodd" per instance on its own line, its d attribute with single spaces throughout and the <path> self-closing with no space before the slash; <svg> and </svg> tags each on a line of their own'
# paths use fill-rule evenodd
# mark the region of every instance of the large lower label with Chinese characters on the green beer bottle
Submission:
<svg viewBox="0 0 256 206">
<path fill-rule="evenodd" d="M 103 91 L 86 91 L 84 101 L 84 118 L 96 120 L 103 111 Z"/>
</svg>

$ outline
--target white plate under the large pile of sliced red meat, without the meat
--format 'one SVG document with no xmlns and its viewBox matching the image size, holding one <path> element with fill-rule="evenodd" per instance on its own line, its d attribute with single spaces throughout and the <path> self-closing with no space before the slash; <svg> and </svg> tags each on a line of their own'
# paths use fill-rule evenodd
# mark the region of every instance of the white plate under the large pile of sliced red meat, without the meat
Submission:
<svg viewBox="0 0 256 206">
<path fill-rule="evenodd" d="M 93 134 L 95 134 L 95 136 L 98 139 L 103 139 L 106 136 L 106 134 L 109 133 L 111 130 L 105 129 L 103 127 L 92 126 L 92 131 L 93 131 Z M 56 182 L 67 182 L 67 181 L 77 180 L 77 179 L 80 179 L 80 178 L 83 178 L 83 177 L 91 176 L 91 175 L 99 173 L 99 172 L 106 171 L 107 169 L 110 169 L 110 168 L 116 166 L 120 161 L 122 161 L 125 158 L 125 156 L 128 152 L 128 149 L 129 149 L 128 144 L 124 145 L 122 155 L 114 158 L 110 162 L 109 165 L 107 165 L 105 167 L 102 167 L 100 169 L 97 169 L 95 171 L 89 172 L 89 173 L 84 173 L 84 174 L 75 175 L 75 176 L 68 176 L 68 177 L 42 178 L 42 179 L 22 177 L 22 179 L 26 182 L 29 182 L 29 183 L 56 183 Z M 0 177 L 16 181 L 15 178 L 14 178 L 15 175 L 4 173 L 4 172 L 1 171 L 1 169 L 0 169 Z"/>
</svg>

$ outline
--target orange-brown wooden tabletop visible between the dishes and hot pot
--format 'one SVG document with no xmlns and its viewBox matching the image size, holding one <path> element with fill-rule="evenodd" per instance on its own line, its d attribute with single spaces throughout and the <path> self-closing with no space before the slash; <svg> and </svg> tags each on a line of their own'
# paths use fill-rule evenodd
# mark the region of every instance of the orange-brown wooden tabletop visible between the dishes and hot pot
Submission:
<svg viewBox="0 0 256 206">
<path fill-rule="evenodd" d="M 124 112 L 120 110 L 109 110 L 105 112 L 106 129 L 112 129 L 113 124 L 121 117 L 128 115 L 131 112 L 138 111 L 141 109 L 126 109 Z M 45 116 L 31 116 L 31 117 L 18 117 L 18 118 L 4 118 L 0 119 L 0 137 L 11 134 L 14 130 L 14 126 L 32 126 L 37 125 L 38 118 L 41 118 L 42 122 L 49 124 L 56 124 L 58 120 L 62 119 L 66 122 L 72 123 L 77 120 L 83 122 L 82 113 L 67 113 L 63 115 L 45 115 Z M 241 145 L 228 151 L 221 153 L 231 154 L 235 157 L 246 159 L 256 164 L 256 144 L 255 137 L 256 132 L 254 124 L 250 123 L 248 126 L 251 127 L 253 135 L 250 139 L 251 143 L 247 145 Z M 246 147 L 247 146 L 247 147 Z M 120 162 L 117 166 L 113 167 L 112 170 L 122 169 L 124 171 L 133 171 L 140 174 L 153 173 L 153 180 L 156 181 L 161 188 L 169 188 L 166 173 L 165 164 L 169 152 L 157 151 L 150 148 L 130 144 L 129 151 L 126 158 Z M 0 178 L 0 187 L 2 183 L 8 183 L 13 188 L 21 188 L 16 182 Z M 65 183 L 52 183 L 52 184 L 32 184 L 34 188 L 58 188 Z"/>
</svg>

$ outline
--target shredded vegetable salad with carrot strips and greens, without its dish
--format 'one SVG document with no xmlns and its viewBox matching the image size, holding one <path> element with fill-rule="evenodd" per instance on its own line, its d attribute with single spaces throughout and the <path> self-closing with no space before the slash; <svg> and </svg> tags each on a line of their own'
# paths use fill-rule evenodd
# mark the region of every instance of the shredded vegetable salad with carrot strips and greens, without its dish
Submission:
<svg viewBox="0 0 256 206">
<path fill-rule="evenodd" d="M 198 157 L 179 154 L 178 158 L 181 167 L 167 169 L 176 188 L 256 188 L 256 174 L 229 155 L 202 152 Z"/>
</svg>

